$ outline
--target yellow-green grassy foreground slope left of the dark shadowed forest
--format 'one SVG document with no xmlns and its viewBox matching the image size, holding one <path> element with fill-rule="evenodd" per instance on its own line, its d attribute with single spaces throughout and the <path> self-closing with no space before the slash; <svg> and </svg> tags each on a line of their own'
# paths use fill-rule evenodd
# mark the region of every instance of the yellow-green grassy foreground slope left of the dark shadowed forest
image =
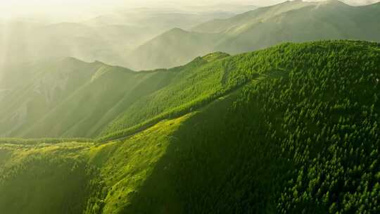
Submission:
<svg viewBox="0 0 380 214">
<path fill-rule="evenodd" d="M 120 213 L 190 116 L 106 144 L 0 144 L 1 213 Z"/>
</svg>

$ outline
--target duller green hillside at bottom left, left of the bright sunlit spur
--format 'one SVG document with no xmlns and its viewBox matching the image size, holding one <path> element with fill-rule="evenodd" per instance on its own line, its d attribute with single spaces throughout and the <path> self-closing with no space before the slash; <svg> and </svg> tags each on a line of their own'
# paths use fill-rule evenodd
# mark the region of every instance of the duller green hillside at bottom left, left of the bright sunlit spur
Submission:
<svg viewBox="0 0 380 214">
<path fill-rule="evenodd" d="M 98 175 L 81 154 L 90 146 L 1 144 L 1 213 L 82 213 Z"/>
</svg>

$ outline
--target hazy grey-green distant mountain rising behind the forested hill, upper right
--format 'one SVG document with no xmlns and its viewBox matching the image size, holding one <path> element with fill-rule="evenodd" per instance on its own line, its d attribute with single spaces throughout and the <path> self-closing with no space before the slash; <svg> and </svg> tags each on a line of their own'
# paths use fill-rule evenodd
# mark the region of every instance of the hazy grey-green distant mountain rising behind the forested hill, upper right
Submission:
<svg viewBox="0 0 380 214">
<path fill-rule="evenodd" d="M 186 37 L 194 39 L 183 39 L 177 31 L 166 32 L 133 51 L 129 61 L 134 69 L 167 68 L 187 63 L 194 56 L 205 52 L 236 54 L 264 49 L 282 42 L 324 39 L 379 42 L 379 14 L 379 3 L 349 6 L 338 0 L 286 1 L 182 31 Z M 202 41 L 208 41 L 208 44 L 204 45 Z M 191 47 L 191 51 L 184 51 L 185 45 Z M 149 46 L 154 46 L 154 51 L 146 48 Z M 149 63 L 145 65 L 139 63 L 141 61 Z"/>
</svg>

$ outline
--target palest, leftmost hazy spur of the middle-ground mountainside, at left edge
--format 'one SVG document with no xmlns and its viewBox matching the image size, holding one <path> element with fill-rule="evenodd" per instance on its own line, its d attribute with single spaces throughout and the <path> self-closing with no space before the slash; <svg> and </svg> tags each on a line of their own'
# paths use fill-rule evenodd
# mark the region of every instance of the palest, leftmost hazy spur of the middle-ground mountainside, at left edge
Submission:
<svg viewBox="0 0 380 214">
<path fill-rule="evenodd" d="M 102 66 L 102 63 L 65 58 L 10 70 L 12 76 L 2 84 L 6 94 L 0 100 L 0 136 L 18 135 L 15 133 L 32 127 L 51 109 L 64 103 Z"/>
</svg>

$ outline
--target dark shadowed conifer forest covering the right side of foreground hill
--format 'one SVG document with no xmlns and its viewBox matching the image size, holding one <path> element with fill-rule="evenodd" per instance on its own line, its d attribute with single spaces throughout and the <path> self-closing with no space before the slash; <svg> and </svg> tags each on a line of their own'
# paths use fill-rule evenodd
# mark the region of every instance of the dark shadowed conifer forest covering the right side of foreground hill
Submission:
<svg viewBox="0 0 380 214">
<path fill-rule="evenodd" d="M 276 49 L 278 72 L 184 122 L 127 211 L 179 199 L 173 213 L 379 213 L 379 54 L 359 42 Z"/>
</svg>

